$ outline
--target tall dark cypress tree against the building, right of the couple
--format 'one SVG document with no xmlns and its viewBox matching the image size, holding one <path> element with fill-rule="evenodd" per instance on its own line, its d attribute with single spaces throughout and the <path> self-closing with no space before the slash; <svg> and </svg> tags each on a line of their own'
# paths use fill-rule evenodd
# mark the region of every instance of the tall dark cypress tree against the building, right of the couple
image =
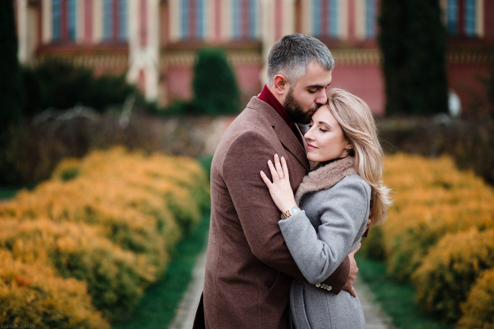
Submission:
<svg viewBox="0 0 494 329">
<path fill-rule="evenodd" d="M 381 0 L 379 25 L 386 113 L 446 112 L 446 29 L 439 1 Z"/>
</svg>

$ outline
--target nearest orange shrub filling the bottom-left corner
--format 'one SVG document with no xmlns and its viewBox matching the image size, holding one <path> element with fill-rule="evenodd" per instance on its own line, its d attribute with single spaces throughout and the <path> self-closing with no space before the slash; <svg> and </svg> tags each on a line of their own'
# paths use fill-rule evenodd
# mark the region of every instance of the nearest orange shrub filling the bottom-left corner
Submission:
<svg viewBox="0 0 494 329">
<path fill-rule="evenodd" d="M 110 329 L 84 282 L 55 276 L 39 260 L 24 264 L 0 249 L 0 323 L 41 329 Z"/>
</svg>

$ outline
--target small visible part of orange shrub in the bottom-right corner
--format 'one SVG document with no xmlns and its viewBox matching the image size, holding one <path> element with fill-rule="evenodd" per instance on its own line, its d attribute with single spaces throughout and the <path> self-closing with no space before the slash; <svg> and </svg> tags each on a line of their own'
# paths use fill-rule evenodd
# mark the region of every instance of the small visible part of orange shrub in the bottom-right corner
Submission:
<svg viewBox="0 0 494 329">
<path fill-rule="evenodd" d="M 461 310 L 458 329 L 494 329 L 494 268 L 477 279 Z"/>
</svg>

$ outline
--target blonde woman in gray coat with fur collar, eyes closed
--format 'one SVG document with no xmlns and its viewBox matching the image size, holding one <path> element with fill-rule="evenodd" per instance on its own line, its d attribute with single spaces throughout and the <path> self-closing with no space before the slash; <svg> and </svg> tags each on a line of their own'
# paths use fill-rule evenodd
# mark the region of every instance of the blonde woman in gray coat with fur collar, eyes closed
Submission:
<svg viewBox="0 0 494 329">
<path fill-rule="evenodd" d="M 292 282 L 292 326 L 364 329 L 358 297 L 345 290 L 328 293 L 320 283 L 359 245 L 368 218 L 377 225 L 386 217 L 389 190 L 381 180 L 383 151 L 377 128 L 369 106 L 341 89 L 328 91 L 328 103 L 314 113 L 309 127 L 304 135 L 307 159 L 319 164 L 304 177 L 295 196 L 283 157 L 280 161 L 275 155 L 274 164 L 268 161 L 273 182 L 261 171 L 282 211 L 279 225 L 288 249 L 308 281 Z"/>
</svg>

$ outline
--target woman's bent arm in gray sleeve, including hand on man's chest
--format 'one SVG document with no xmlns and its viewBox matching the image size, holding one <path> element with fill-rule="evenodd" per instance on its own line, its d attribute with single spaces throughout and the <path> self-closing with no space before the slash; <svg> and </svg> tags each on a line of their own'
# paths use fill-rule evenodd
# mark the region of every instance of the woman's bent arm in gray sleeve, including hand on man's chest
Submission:
<svg viewBox="0 0 494 329">
<path fill-rule="evenodd" d="M 275 155 L 274 161 L 274 165 L 271 161 L 268 162 L 273 182 L 262 171 L 261 176 L 268 186 L 276 206 L 280 211 L 284 212 L 291 206 L 295 206 L 295 200 L 289 185 L 288 168 L 285 159 L 282 157 L 280 164 L 278 156 Z M 354 189 L 356 188 L 354 191 L 356 193 L 350 193 L 352 187 L 349 186 L 347 194 L 351 195 L 339 195 L 340 193 L 337 193 L 339 189 L 335 190 L 335 186 L 331 189 L 331 194 L 334 194 L 334 196 L 325 197 L 321 204 L 318 204 L 318 208 L 322 212 L 321 220 L 323 221 L 319 227 L 319 235 L 316 234 L 304 211 L 292 215 L 279 223 L 288 249 L 297 266 L 304 277 L 312 284 L 321 283 L 339 266 L 348 253 L 343 252 L 343 250 L 348 250 L 348 247 L 352 246 L 356 234 L 361 228 L 358 223 L 352 224 L 352 218 L 365 217 L 365 212 L 369 207 L 367 192 L 360 182 L 351 185 L 353 185 Z M 358 197 L 359 195 L 360 198 Z M 341 202 L 345 203 L 349 200 L 352 201 L 352 199 L 353 202 L 356 202 L 357 199 L 361 200 L 362 206 L 358 206 L 358 208 L 363 209 L 363 214 L 355 217 L 354 214 L 346 213 L 344 210 L 337 211 Z M 339 220 L 335 220 L 333 217 Z M 333 225 L 335 226 L 332 227 Z"/>
</svg>

